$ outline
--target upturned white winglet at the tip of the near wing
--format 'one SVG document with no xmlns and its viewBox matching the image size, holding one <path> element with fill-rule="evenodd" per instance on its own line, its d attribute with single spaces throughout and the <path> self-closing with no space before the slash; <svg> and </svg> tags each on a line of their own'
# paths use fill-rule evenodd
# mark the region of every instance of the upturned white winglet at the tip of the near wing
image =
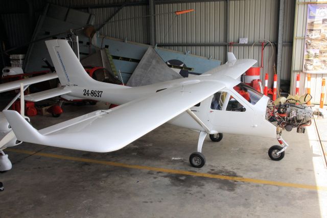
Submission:
<svg viewBox="0 0 327 218">
<path fill-rule="evenodd" d="M 3 112 L 18 140 L 40 144 L 44 136 L 34 129 L 17 111 L 4 110 Z"/>
</svg>

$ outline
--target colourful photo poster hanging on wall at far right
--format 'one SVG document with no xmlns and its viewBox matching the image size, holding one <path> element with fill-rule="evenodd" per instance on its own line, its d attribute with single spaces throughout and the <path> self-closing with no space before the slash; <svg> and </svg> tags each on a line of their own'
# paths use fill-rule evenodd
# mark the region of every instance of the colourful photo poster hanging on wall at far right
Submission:
<svg viewBox="0 0 327 218">
<path fill-rule="evenodd" d="M 327 4 L 309 4 L 303 72 L 327 73 Z"/>
</svg>

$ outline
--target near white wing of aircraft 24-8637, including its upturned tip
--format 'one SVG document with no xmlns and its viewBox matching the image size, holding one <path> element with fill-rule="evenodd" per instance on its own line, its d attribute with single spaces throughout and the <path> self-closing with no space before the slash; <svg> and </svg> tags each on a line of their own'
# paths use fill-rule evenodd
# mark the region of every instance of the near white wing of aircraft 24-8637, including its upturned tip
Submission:
<svg viewBox="0 0 327 218">
<path fill-rule="evenodd" d="M 18 140 L 90 152 L 119 150 L 223 89 L 217 81 L 186 81 L 106 111 L 95 111 L 37 131 L 4 110 Z"/>
</svg>

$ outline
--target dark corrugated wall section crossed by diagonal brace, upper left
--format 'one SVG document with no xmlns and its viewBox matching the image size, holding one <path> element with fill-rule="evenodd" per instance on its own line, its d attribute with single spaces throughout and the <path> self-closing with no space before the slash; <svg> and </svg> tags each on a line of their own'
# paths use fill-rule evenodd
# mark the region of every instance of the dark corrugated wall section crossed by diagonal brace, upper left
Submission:
<svg viewBox="0 0 327 218">
<path fill-rule="evenodd" d="M 64 6 L 67 8 L 78 8 L 84 12 L 94 14 L 96 17 L 95 28 L 97 29 L 106 21 L 116 10 L 117 7 L 103 7 L 112 4 L 124 4 L 125 0 L 50 0 L 49 3 Z M 138 3 L 140 1 L 131 0 L 130 3 Z M 97 7 L 99 6 L 99 7 Z M 87 8 L 90 7 L 90 8 Z M 100 35 L 110 36 L 114 38 L 125 39 L 140 43 L 149 43 L 149 18 L 144 17 L 149 14 L 147 5 L 126 6 L 119 11 L 100 31 Z M 115 21 L 119 20 L 119 21 Z"/>
</svg>

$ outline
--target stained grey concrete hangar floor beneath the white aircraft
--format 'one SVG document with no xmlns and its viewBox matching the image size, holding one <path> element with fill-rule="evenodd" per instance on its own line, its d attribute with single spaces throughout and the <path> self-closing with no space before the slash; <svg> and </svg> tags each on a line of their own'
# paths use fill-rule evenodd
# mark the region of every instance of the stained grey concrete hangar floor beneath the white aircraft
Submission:
<svg viewBox="0 0 327 218">
<path fill-rule="evenodd" d="M 59 118 L 31 120 L 40 129 L 105 108 L 64 106 Z M 198 134 L 168 124 L 106 154 L 23 143 L 7 152 L 13 168 L 0 174 L 0 217 L 327 217 L 327 170 L 314 126 L 283 137 L 290 148 L 281 161 L 267 154 L 275 139 L 207 137 L 200 169 L 188 160 Z"/>
</svg>

